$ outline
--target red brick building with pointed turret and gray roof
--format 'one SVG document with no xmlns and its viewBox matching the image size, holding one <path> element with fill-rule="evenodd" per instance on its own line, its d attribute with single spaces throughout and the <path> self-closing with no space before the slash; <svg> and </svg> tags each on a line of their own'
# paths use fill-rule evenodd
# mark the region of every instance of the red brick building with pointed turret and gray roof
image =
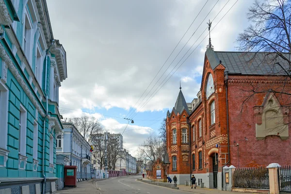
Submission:
<svg viewBox="0 0 291 194">
<path fill-rule="evenodd" d="M 180 90 L 167 113 L 168 174 L 178 184 L 194 174 L 221 189 L 225 165 L 291 164 L 291 81 L 264 56 L 207 49 L 197 98 L 186 103 Z"/>
</svg>

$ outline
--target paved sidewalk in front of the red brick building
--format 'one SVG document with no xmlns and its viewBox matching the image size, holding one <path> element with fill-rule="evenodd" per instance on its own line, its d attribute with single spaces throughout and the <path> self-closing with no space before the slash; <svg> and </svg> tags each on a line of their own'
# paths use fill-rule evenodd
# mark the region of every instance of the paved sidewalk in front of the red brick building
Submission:
<svg viewBox="0 0 291 194">
<path fill-rule="evenodd" d="M 208 189 L 208 188 L 200 188 L 196 187 L 196 189 L 191 189 L 191 186 L 185 186 L 185 185 L 177 185 L 179 190 L 181 191 L 188 191 L 195 194 L 251 194 L 251 193 L 245 193 L 245 192 L 233 192 L 233 191 L 220 191 L 217 189 Z"/>
</svg>

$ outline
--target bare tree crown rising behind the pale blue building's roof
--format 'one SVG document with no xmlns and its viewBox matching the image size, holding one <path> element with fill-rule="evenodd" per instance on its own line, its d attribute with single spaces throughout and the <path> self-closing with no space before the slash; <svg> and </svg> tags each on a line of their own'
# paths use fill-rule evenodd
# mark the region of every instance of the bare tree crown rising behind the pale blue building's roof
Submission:
<svg viewBox="0 0 291 194">
<path fill-rule="evenodd" d="M 94 116 L 81 116 L 75 118 L 69 118 L 69 122 L 73 123 L 78 129 L 85 140 L 91 145 L 93 140 L 93 135 L 100 133 L 102 127 L 98 122 L 98 119 Z"/>
</svg>

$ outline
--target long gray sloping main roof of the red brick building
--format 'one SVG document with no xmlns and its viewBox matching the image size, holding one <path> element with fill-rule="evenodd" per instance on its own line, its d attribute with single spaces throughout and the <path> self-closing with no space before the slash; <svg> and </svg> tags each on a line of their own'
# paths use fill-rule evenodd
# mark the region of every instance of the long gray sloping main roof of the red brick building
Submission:
<svg viewBox="0 0 291 194">
<path fill-rule="evenodd" d="M 242 75 L 284 75 L 285 73 L 276 62 L 280 62 L 285 68 L 289 69 L 289 64 L 283 59 L 275 59 L 275 53 L 266 52 L 225 52 L 206 50 L 206 56 L 214 69 L 221 64 L 226 67 L 229 73 Z"/>
</svg>

